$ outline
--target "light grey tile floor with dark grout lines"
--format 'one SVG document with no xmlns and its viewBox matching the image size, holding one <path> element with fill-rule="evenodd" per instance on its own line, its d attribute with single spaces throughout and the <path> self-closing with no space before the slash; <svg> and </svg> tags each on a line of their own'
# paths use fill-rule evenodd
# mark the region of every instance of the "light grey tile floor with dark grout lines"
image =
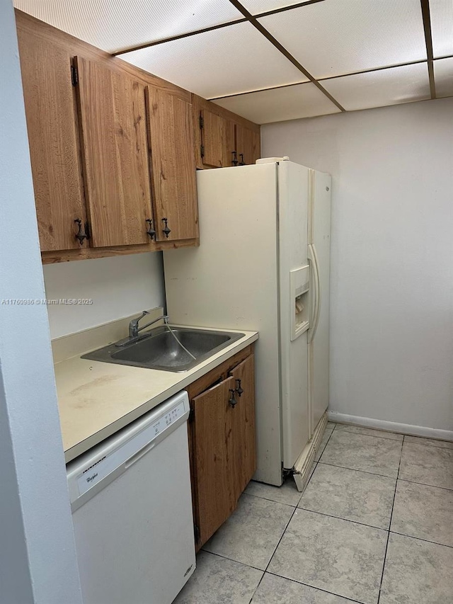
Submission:
<svg viewBox="0 0 453 604">
<path fill-rule="evenodd" d="M 453 603 L 453 443 L 329 423 L 304 494 L 251 482 L 174 604 Z"/>
</svg>

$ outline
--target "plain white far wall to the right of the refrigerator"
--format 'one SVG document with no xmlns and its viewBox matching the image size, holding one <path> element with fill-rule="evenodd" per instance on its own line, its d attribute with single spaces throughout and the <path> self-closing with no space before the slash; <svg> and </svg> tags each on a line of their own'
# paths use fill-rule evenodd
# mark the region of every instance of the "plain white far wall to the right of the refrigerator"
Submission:
<svg viewBox="0 0 453 604">
<path fill-rule="evenodd" d="M 330 409 L 453 430 L 453 98 L 262 139 L 333 176 Z"/>
</svg>

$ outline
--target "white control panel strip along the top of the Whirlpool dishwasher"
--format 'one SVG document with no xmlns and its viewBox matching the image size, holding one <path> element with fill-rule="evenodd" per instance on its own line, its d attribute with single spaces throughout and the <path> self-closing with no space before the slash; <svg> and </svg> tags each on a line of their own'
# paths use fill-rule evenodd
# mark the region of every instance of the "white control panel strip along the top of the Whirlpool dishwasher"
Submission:
<svg viewBox="0 0 453 604">
<path fill-rule="evenodd" d="M 107 477 L 115 479 L 188 419 L 187 392 L 176 394 L 67 465 L 71 504 Z M 97 491 L 97 489 L 94 489 Z M 80 501 L 81 505 L 84 503 Z"/>
</svg>

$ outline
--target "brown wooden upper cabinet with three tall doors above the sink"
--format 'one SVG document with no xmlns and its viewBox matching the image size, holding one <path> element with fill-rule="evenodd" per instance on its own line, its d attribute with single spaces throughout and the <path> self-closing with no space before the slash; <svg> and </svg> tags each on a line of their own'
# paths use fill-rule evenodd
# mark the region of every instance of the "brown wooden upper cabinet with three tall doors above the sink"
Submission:
<svg viewBox="0 0 453 604">
<path fill-rule="evenodd" d="M 197 244 L 190 93 L 16 16 L 43 261 Z"/>
</svg>

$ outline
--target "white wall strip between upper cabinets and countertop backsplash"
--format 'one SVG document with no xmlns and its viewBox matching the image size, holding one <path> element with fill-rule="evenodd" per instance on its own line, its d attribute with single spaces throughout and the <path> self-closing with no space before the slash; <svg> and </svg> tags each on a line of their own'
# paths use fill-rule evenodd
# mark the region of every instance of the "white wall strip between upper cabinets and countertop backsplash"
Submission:
<svg viewBox="0 0 453 604">
<path fill-rule="evenodd" d="M 47 306 L 52 339 L 165 304 L 161 252 L 47 264 L 44 279 L 48 300 L 93 300 Z"/>
</svg>

